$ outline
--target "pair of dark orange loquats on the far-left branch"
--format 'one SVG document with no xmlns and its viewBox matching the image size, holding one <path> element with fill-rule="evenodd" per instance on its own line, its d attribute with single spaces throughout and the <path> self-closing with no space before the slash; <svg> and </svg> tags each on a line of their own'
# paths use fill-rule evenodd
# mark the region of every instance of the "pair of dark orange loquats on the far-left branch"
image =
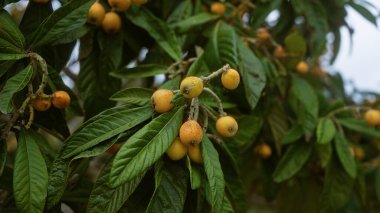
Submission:
<svg viewBox="0 0 380 213">
<path fill-rule="evenodd" d="M 64 109 L 70 105 L 70 96 L 65 91 L 56 91 L 51 95 L 41 95 L 31 102 L 33 108 L 43 112 L 50 109 L 53 104 L 58 109 Z"/>
</svg>

